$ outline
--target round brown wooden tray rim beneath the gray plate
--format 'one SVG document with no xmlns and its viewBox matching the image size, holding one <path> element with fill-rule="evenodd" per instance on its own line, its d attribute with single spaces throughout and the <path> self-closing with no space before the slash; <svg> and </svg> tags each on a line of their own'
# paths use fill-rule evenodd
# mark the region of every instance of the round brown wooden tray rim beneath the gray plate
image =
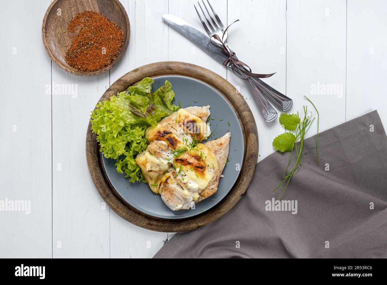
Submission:
<svg viewBox="0 0 387 285">
<path fill-rule="evenodd" d="M 156 62 L 136 68 L 113 83 L 99 100 L 108 100 L 112 95 L 117 95 L 118 92 L 126 90 L 129 86 L 134 85 L 145 77 L 162 75 L 182 75 L 199 79 L 200 81 L 211 85 L 221 93 L 236 112 L 243 130 L 245 154 L 239 178 L 228 195 L 216 206 L 192 218 L 165 220 L 152 218 L 142 214 L 138 210 L 124 204 L 122 200 L 116 196 L 116 191 L 110 188 L 110 183 L 105 180 L 103 171 L 101 170 L 96 135 L 91 132 L 91 123 L 89 123 L 89 126 L 87 127 L 86 135 L 87 165 L 89 166 L 90 175 L 94 185 L 103 200 L 111 209 L 113 209 L 113 211 L 130 223 L 149 230 L 163 232 L 194 230 L 195 228 L 205 226 L 220 218 L 229 211 L 229 209 L 238 202 L 243 193 L 245 193 L 253 177 L 258 159 L 257 125 L 255 124 L 250 108 L 233 85 L 223 77 L 208 69 L 185 62 Z"/>
</svg>

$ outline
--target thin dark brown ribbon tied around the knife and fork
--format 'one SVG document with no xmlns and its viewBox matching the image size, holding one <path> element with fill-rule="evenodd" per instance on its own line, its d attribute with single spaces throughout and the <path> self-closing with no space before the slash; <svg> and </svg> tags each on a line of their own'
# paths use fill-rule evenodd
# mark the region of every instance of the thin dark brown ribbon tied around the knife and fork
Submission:
<svg viewBox="0 0 387 285">
<path fill-rule="evenodd" d="M 228 25 L 228 27 L 224 30 L 223 32 L 223 36 L 222 38 L 219 38 L 218 35 L 213 35 L 211 36 L 211 43 L 212 45 L 214 45 L 215 47 L 218 47 L 218 48 L 221 48 L 223 50 L 223 52 L 228 55 L 228 59 L 226 59 L 224 62 L 223 62 L 223 65 L 224 66 L 227 66 L 228 63 L 230 63 L 230 66 L 232 67 L 233 69 L 233 72 L 236 76 L 238 76 L 239 78 L 241 79 L 248 79 L 248 77 L 244 78 L 241 76 L 241 74 L 237 74 L 235 73 L 235 69 L 238 69 L 239 72 L 243 73 L 243 74 L 246 74 L 247 76 L 250 76 L 250 77 L 254 77 L 254 78 L 268 78 L 276 73 L 270 73 L 270 74 L 259 74 L 259 73 L 252 73 L 252 70 L 251 68 L 245 64 L 244 62 L 238 60 L 238 59 L 235 59 L 234 56 L 235 56 L 235 52 L 229 52 L 226 45 L 224 45 L 223 43 L 223 38 L 224 38 L 224 35 L 226 35 L 226 32 L 228 30 L 228 28 L 234 24 L 235 22 L 238 22 L 238 20 L 232 22 L 231 24 Z M 212 38 L 216 39 L 217 41 L 219 41 L 221 43 L 221 46 L 219 47 L 219 45 L 216 45 L 215 43 L 212 42 Z M 240 66 L 245 66 L 249 71 L 246 71 L 244 68 L 241 68 Z"/>
</svg>

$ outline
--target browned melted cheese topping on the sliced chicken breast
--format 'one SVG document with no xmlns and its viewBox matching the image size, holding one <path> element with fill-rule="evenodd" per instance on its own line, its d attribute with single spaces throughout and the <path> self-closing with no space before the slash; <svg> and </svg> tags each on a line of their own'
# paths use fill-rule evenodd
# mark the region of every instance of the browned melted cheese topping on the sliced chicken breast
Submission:
<svg viewBox="0 0 387 285">
<path fill-rule="evenodd" d="M 193 137 L 200 141 L 210 134 L 210 127 L 200 117 L 185 109 L 179 109 L 159 121 L 157 126 L 149 127 L 146 135 L 151 143 L 145 152 L 137 155 L 136 163 L 151 190 L 161 194 L 164 187 L 180 185 L 181 189 L 175 191 L 179 193 L 176 199 L 186 202 L 187 199 L 197 200 L 199 191 L 207 187 L 218 164 L 216 156 L 208 147 L 198 143 L 191 149 L 190 145 L 194 141 Z M 182 149 L 187 151 L 174 157 L 174 152 Z M 181 207 L 187 206 L 183 204 Z"/>
</svg>

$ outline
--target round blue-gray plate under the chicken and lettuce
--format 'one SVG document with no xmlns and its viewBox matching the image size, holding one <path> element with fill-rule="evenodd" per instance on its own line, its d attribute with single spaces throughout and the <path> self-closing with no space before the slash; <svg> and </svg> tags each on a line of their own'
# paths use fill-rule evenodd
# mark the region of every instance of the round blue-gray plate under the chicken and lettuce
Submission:
<svg viewBox="0 0 387 285">
<path fill-rule="evenodd" d="M 207 106 L 210 105 L 211 131 L 215 133 L 214 137 L 223 136 L 227 130 L 231 133 L 230 150 L 228 159 L 230 160 L 224 170 L 224 177 L 220 179 L 217 192 L 207 199 L 195 204 L 195 209 L 172 211 L 168 208 L 160 195 L 154 195 L 146 183 L 130 183 L 128 178 L 120 174 L 115 169 L 115 160 L 103 157 L 102 162 L 106 175 L 111 185 L 115 188 L 118 195 L 135 209 L 156 218 L 161 219 L 184 219 L 193 217 L 207 211 L 219 203 L 231 190 L 237 180 L 240 171 L 236 170 L 236 164 L 242 166 L 243 162 L 243 133 L 238 117 L 233 108 L 228 104 L 225 98 L 211 86 L 197 79 L 184 76 L 159 76 L 154 79 L 152 85 L 153 91 L 164 85 L 165 80 L 172 84 L 175 92 L 175 105 L 178 101 L 183 108 L 189 106 Z M 197 101 L 197 103 L 194 102 Z M 223 119 L 223 121 L 220 121 Z M 228 122 L 230 125 L 228 125 Z M 130 186 L 130 188 L 127 188 Z"/>
</svg>

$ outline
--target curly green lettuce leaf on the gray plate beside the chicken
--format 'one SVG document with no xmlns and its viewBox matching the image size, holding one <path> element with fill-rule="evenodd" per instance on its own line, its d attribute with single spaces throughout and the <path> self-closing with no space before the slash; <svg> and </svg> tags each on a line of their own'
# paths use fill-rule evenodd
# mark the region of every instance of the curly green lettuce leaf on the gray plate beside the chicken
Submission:
<svg viewBox="0 0 387 285">
<path fill-rule="evenodd" d="M 147 148 L 147 128 L 179 109 L 172 103 L 175 93 L 171 83 L 165 81 L 152 92 L 153 82 L 151 78 L 142 79 L 127 92 L 98 102 L 91 114 L 91 130 L 97 135 L 101 152 L 116 160 L 117 171 L 130 177 L 130 182 L 145 182 L 135 158 Z"/>
</svg>

